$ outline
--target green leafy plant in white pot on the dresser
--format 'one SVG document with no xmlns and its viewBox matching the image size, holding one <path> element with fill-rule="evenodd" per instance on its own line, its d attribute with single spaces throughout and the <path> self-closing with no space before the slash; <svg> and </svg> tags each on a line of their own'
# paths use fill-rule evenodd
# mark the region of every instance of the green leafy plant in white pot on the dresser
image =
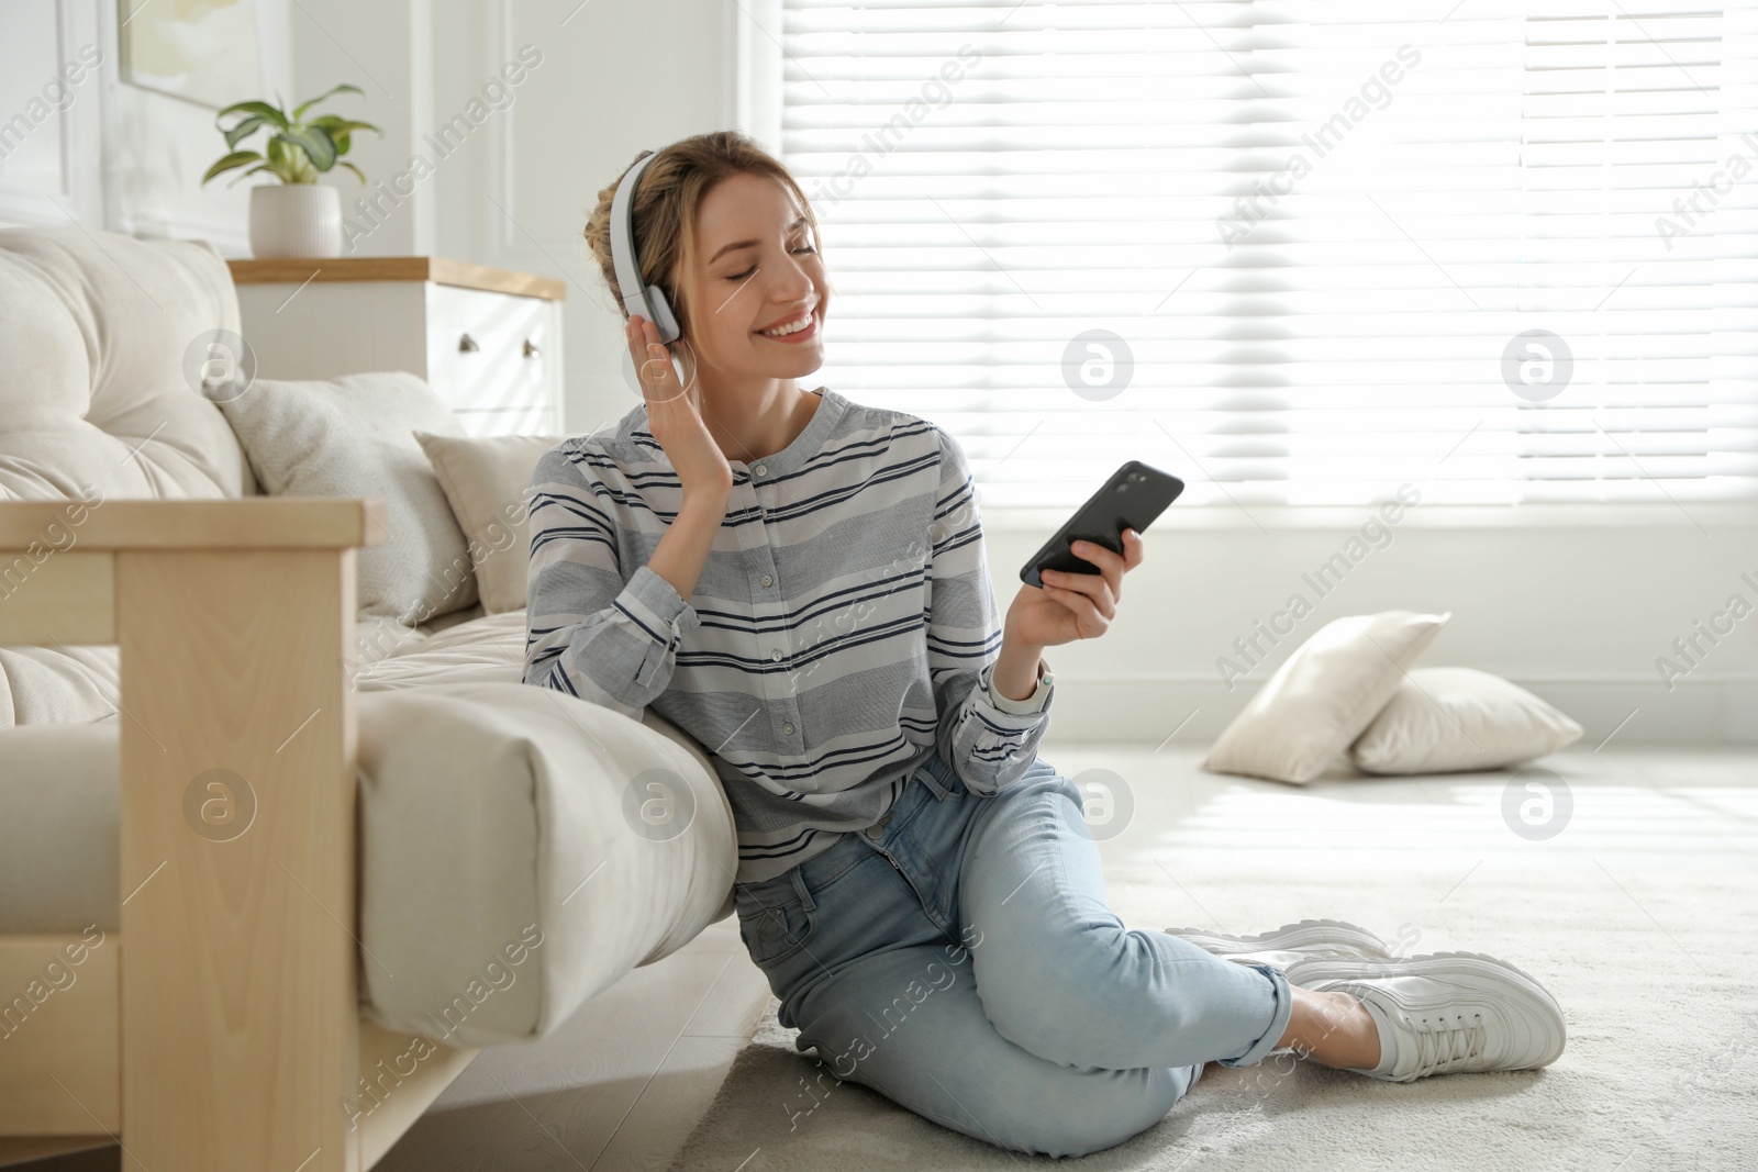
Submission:
<svg viewBox="0 0 1758 1172">
<path fill-rule="evenodd" d="M 239 167 L 248 170 L 232 179 L 232 184 L 260 170 L 280 179 L 280 183 L 258 184 L 250 193 L 250 251 L 253 255 L 341 255 L 341 193 L 318 183 L 318 176 L 332 167 L 346 167 L 360 183 L 366 183 L 360 169 L 345 162 L 343 155 L 348 153 L 355 130 L 371 130 L 378 137 L 385 137 L 385 132 L 373 123 L 353 121 L 341 114 L 306 119 L 306 111 L 338 93 L 366 97 L 360 86 L 341 84 L 309 102 L 301 102 L 292 114 L 269 102 L 236 102 L 214 114 L 214 127 L 225 135 L 227 155 L 222 155 L 207 169 L 207 174 L 202 176 L 202 186 L 214 176 Z M 237 121 L 222 127 L 220 123 L 230 116 L 237 116 Z M 237 144 L 258 130 L 269 132 L 264 149 L 241 151 Z"/>
</svg>

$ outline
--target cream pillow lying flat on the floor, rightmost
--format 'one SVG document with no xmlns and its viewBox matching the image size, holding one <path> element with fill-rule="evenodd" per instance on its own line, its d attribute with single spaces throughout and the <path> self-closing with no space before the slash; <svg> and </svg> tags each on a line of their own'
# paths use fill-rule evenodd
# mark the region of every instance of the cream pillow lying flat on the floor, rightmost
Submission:
<svg viewBox="0 0 1758 1172">
<path fill-rule="evenodd" d="M 1500 770 L 1580 740 L 1524 687 L 1475 668 L 1417 668 L 1348 756 L 1366 773 Z"/>
</svg>

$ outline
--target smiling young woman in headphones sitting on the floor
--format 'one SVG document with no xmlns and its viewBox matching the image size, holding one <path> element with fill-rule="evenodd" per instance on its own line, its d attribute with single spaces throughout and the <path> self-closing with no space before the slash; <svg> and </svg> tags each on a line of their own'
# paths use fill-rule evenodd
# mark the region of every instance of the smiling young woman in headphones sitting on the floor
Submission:
<svg viewBox="0 0 1758 1172">
<path fill-rule="evenodd" d="M 585 237 L 622 304 L 614 193 Z M 1000 617 L 958 441 L 798 381 L 833 290 L 788 170 L 738 134 L 684 139 L 640 176 L 633 221 L 686 371 L 633 315 L 642 406 L 538 464 L 526 682 L 650 705 L 710 752 L 740 935 L 800 1051 L 1055 1156 L 1151 1126 L 1208 1061 L 1292 1047 L 1410 1081 L 1561 1053 L 1556 1002 L 1491 958 L 1392 961 L 1334 921 L 1125 928 L 1081 794 L 1037 743 L 1044 648 L 1104 636 L 1143 538 L 1078 545 L 1099 573 L 1046 575 Z"/>
</svg>

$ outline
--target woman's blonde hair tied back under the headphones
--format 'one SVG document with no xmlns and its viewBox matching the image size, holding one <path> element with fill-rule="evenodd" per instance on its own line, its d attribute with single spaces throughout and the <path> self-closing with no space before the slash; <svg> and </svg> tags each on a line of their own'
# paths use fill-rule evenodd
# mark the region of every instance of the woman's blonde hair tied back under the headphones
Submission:
<svg viewBox="0 0 1758 1172">
<path fill-rule="evenodd" d="M 642 151 L 629 160 L 629 167 L 647 155 L 654 155 L 654 151 Z M 615 183 L 598 192 L 598 207 L 585 221 L 585 242 L 591 246 L 598 271 L 605 278 L 605 285 L 610 286 L 617 307 L 622 309 L 624 320 L 628 320 L 629 311 L 622 304 L 617 265 L 610 253 L 610 202 L 615 199 L 617 183 L 629 172 L 629 167 L 622 169 Z M 805 192 L 800 190 L 788 169 L 751 135 L 737 130 L 716 130 L 661 148 L 657 158 L 642 172 L 629 200 L 635 221 L 636 267 L 642 283 L 665 290 L 686 337 L 691 334 L 691 307 L 679 278 L 689 271 L 696 257 L 696 209 L 721 179 L 735 174 L 770 176 L 793 192 L 800 202 L 800 214 L 805 216 L 812 230 L 814 244 L 823 250 L 823 242 L 817 239 L 817 216 L 812 213 Z"/>
</svg>

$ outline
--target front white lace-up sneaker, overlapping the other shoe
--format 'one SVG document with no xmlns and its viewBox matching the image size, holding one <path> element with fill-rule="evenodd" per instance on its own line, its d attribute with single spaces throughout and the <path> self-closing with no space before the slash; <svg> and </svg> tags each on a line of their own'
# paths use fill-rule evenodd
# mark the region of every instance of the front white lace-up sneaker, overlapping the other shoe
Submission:
<svg viewBox="0 0 1758 1172">
<path fill-rule="evenodd" d="M 1340 1068 L 1385 1082 L 1545 1067 L 1566 1038 L 1556 998 L 1531 975 L 1482 952 L 1315 958 L 1296 984 L 1361 998 L 1380 1026 L 1380 1065 Z"/>
</svg>

